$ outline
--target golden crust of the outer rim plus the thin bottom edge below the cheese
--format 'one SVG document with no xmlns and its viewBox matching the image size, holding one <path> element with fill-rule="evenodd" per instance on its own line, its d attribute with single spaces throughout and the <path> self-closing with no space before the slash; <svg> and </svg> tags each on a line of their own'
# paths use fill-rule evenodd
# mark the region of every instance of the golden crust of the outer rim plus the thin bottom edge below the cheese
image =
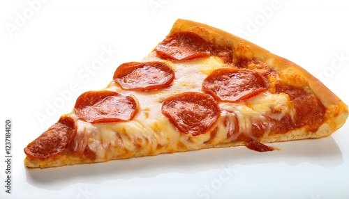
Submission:
<svg viewBox="0 0 349 199">
<path fill-rule="evenodd" d="M 300 128 L 292 130 L 286 134 L 273 134 L 268 137 L 261 138 L 261 143 L 274 143 L 306 138 L 322 138 L 329 136 L 341 126 L 343 126 L 346 122 L 346 119 L 348 118 L 348 106 L 344 104 L 339 99 L 339 97 L 332 93 L 332 91 L 329 90 L 324 84 L 322 84 L 318 79 L 309 74 L 309 72 L 306 72 L 306 70 L 304 70 L 299 65 L 292 63 L 285 58 L 276 56 L 266 49 L 248 42 L 247 40 L 239 38 L 235 35 L 231 35 L 230 33 L 226 33 L 225 31 L 221 31 L 220 29 L 207 26 L 206 24 L 192 22 L 186 19 L 178 19 L 177 22 L 174 23 L 170 33 L 175 33 L 178 31 L 192 31 L 194 33 L 198 33 L 202 36 L 202 38 L 205 38 L 209 42 L 214 42 L 217 45 L 231 45 L 235 47 L 239 43 L 244 43 L 244 45 L 253 52 L 253 56 L 255 58 L 259 58 L 260 60 L 265 61 L 265 63 L 267 63 L 269 66 L 274 67 L 274 69 L 288 74 L 288 77 L 292 77 L 295 76 L 293 74 L 297 74 L 297 77 L 300 76 L 305 79 L 307 81 L 307 86 L 309 86 L 309 88 L 313 90 L 313 93 L 315 93 L 322 104 L 324 104 L 324 106 L 326 107 L 325 122 L 319 127 L 317 132 L 307 132 L 306 128 Z M 297 83 L 298 81 L 290 82 L 294 83 L 294 85 L 297 86 L 297 84 L 295 83 Z M 228 148 L 239 145 L 245 145 L 245 143 L 243 141 L 235 141 L 217 145 L 206 144 L 203 148 Z M 191 149 L 178 149 L 177 151 L 169 152 L 163 148 L 159 148 L 154 152 L 151 152 L 151 154 L 142 154 L 138 152 L 131 154 L 128 157 L 118 157 L 115 159 L 153 156 L 161 153 L 185 152 L 188 150 Z M 88 159 L 87 157 L 77 157 L 66 154 L 61 154 L 57 157 L 53 157 L 52 159 L 47 160 L 31 159 L 30 157 L 26 157 L 26 159 L 24 159 L 24 165 L 29 168 L 47 168 L 75 164 L 91 164 L 95 162 L 96 161 Z"/>
</svg>

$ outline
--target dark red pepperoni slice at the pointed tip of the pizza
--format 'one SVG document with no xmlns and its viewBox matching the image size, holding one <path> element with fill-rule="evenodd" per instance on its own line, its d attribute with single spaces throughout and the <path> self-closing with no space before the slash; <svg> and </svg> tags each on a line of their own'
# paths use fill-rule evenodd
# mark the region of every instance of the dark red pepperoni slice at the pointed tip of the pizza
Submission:
<svg viewBox="0 0 349 199">
<path fill-rule="evenodd" d="M 75 120 L 70 116 L 61 116 L 59 121 L 46 132 L 24 148 L 28 157 L 34 159 L 48 159 L 67 150 L 76 134 Z"/>
</svg>

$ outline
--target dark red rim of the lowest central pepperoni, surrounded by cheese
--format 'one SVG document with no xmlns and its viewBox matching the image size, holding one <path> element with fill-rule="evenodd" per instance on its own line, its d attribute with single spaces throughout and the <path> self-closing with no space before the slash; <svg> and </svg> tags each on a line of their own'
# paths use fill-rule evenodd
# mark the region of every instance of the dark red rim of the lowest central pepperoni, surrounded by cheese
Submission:
<svg viewBox="0 0 349 199">
<path fill-rule="evenodd" d="M 208 127 L 205 127 L 204 131 L 197 131 L 197 132 L 189 133 L 188 131 L 184 130 L 182 127 L 180 127 L 178 125 L 178 123 L 172 117 L 171 113 L 169 113 L 168 111 L 165 110 L 165 106 L 167 104 L 170 104 L 171 102 L 176 101 L 177 99 L 180 101 L 181 98 L 190 97 L 190 96 L 191 96 L 191 100 L 193 100 L 193 98 L 198 98 L 198 97 L 202 98 L 202 99 L 199 99 L 199 100 L 203 100 L 205 98 L 205 100 L 211 101 L 212 102 L 211 105 L 214 106 L 213 112 L 216 113 L 215 116 L 213 117 L 214 121 L 211 122 L 211 124 Z M 195 96 L 195 97 L 193 97 L 193 96 Z M 185 101 L 185 100 L 183 100 L 183 101 Z M 197 93 L 197 92 L 179 93 L 177 95 L 173 95 L 171 97 L 166 98 L 163 101 L 163 105 L 161 106 L 161 113 L 163 113 L 163 115 L 166 116 L 170 120 L 172 125 L 174 125 L 174 127 L 176 127 L 179 130 L 179 132 L 182 132 L 184 134 L 191 134 L 193 136 L 199 136 L 201 134 L 205 134 L 206 132 L 209 132 L 210 129 L 212 129 L 214 127 L 214 125 L 218 121 L 219 117 L 221 116 L 221 110 L 219 109 L 219 106 L 218 106 L 216 100 L 213 97 L 211 97 L 211 95 L 207 95 L 205 93 Z"/>
</svg>

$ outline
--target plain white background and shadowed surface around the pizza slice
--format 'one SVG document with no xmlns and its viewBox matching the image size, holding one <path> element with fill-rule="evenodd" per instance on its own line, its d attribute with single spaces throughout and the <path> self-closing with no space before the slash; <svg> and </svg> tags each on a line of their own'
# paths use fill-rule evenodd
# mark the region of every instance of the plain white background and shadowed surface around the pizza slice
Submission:
<svg viewBox="0 0 349 199">
<path fill-rule="evenodd" d="M 81 93 L 105 88 L 121 63 L 146 56 L 177 18 L 288 58 L 349 103 L 347 2 L 0 1 L 0 198 L 349 198 L 348 124 L 328 138 L 272 144 L 279 152 L 239 147 L 63 168 L 23 165 L 29 142 L 69 113 Z M 13 120 L 10 194 L 6 118 Z"/>
</svg>

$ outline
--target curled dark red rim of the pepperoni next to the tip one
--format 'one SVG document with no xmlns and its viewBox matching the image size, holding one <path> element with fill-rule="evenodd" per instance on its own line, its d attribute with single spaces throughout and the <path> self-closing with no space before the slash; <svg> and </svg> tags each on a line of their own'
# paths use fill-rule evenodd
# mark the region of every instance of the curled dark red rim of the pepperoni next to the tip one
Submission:
<svg viewBox="0 0 349 199">
<path fill-rule="evenodd" d="M 99 97 L 96 97 L 94 100 L 91 100 L 91 96 L 93 95 L 98 95 L 100 94 Z M 130 116 L 128 117 L 127 120 L 123 120 L 121 118 L 99 118 L 99 119 L 94 119 L 94 120 L 89 120 L 87 119 L 85 114 L 82 113 L 82 109 L 87 108 L 87 106 L 93 106 L 94 104 L 97 104 L 98 102 L 101 102 L 105 100 L 106 97 L 110 96 L 123 96 L 125 97 L 128 101 L 130 101 L 133 106 L 133 111 L 131 112 Z M 91 122 L 92 124 L 94 123 L 106 123 L 106 122 L 124 122 L 128 120 L 132 120 L 135 117 L 135 114 L 138 113 L 138 101 L 135 97 L 131 95 L 121 95 L 120 93 L 110 91 L 110 90 L 92 90 L 92 91 L 87 91 L 85 93 L 82 93 L 79 97 L 77 97 L 77 100 L 75 102 L 75 115 L 79 117 L 80 120 L 84 120 L 86 122 Z"/>
</svg>

